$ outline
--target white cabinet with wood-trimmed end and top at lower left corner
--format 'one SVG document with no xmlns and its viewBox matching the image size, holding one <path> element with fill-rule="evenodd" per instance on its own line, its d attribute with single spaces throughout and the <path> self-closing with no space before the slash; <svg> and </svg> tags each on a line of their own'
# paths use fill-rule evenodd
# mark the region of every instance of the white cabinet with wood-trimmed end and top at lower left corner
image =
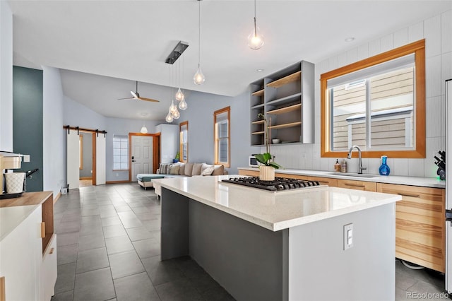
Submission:
<svg viewBox="0 0 452 301">
<path fill-rule="evenodd" d="M 53 194 L 28 192 L 0 203 L 0 300 L 49 301 L 57 282 Z M 3 290 L 3 291 L 2 291 Z"/>
</svg>

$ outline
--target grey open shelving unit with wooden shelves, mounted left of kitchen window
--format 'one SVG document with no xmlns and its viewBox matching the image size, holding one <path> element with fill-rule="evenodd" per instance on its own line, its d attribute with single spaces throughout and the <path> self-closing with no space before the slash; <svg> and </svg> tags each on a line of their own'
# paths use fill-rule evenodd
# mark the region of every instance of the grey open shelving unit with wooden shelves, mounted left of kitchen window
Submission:
<svg viewBox="0 0 452 301">
<path fill-rule="evenodd" d="M 251 83 L 251 146 L 266 141 L 264 114 L 270 139 L 290 143 L 314 143 L 314 64 L 300 61 Z M 270 117 L 270 118 L 268 118 Z"/>
</svg>

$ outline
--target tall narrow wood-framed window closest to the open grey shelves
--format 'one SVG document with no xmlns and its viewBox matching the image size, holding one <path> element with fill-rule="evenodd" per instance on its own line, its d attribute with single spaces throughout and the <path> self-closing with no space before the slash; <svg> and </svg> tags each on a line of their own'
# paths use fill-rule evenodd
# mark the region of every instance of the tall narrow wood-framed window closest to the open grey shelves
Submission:
<svg viewBox="0 0 452 301">
<path fill-rule="evenodd" d="M 230 107 L 213 112 L 215 164 L 230 167 Z"/>
</svg>

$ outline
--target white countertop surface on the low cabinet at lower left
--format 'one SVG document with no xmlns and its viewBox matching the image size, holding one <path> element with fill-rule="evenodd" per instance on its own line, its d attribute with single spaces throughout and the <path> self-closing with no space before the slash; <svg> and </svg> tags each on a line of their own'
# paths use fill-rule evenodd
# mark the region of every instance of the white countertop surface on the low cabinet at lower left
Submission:
<svg viewBox="0 0 452 301">
<path fill-rule="evenodd" d="M 0 208 L 0 242 L 35 211 L 38 205 Z"/>
</svg>

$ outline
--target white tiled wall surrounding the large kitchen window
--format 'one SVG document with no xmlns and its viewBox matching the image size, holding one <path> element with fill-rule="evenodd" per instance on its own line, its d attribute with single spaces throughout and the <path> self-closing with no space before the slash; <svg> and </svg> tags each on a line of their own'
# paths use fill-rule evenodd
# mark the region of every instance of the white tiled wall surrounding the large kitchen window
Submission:
<svg viewBox="0 0 452 301">
<path fill-rule="evenodd" d="M 275 161 L 284 167 L 307 170 L 331 170 L 335 158 L 320 158 L 320 75 L 355 61 L 425 38 L 426 42 L 426 145 L 425 159 L 388 159 L 391 175 L 436 177 L 433 156 L 444 150 L 445 144 L 445 90 L 444 81 L 452 78 L 452 11 L 408 25 L 376 40 L 357 45 L 346 52 L 316 63 L 315 72 L 315 144 L 302 146 L 273 146 Z M 350 171 L 357 170 L 357 159 L 347 160 Z M 368 173 L 378 174 L 380 159 L 362 160 Z"/>
</svg>

